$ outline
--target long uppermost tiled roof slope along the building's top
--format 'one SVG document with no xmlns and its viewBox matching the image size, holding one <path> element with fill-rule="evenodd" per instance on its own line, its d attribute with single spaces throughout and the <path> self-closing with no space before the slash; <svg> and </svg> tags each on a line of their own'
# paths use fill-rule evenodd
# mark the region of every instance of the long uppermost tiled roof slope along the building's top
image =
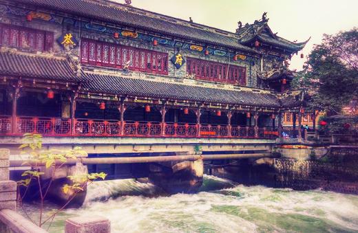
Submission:
<svg viewBox="0 0 358 233">
<path fill-rule="evenodd" d="M 187 38 L 211 45 L 219 45 L 256 53 L 254 49 L 238 43 L 238 35 L 224 32 L 213 27 L 198 23 L 189 23 L 182 19 L 148 12 L 110 1 L 91 0 L 16 0 L 38 7 L 59 10 L 88 18 L 117 23 L 124 26 L 140 28 L 149 32 L 159 32 L 165 35 Z M 217 32 L 215 32 L 217 31 Z M 218 32 L 220 31 L 220 32 Z"/>
</svg>

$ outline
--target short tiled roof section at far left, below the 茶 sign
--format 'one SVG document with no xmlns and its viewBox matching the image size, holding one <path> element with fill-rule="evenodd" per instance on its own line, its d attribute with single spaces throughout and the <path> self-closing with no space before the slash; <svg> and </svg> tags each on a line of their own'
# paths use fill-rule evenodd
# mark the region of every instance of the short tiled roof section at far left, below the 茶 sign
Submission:
<svg viewBox="0 0 358 233">
<path fill-rule="evenodd" d="M 66 58 L 25 54 L 11 50 L 0 51 L 0 74 L 24 78 L 79 80 Z"/>
</svg>

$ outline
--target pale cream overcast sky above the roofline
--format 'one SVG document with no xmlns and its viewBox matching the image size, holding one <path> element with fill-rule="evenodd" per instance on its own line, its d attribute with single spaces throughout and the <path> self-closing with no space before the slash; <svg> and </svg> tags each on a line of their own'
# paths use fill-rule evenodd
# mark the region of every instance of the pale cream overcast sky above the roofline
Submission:
<svg viewBox="0 0 358 233">
<path fill-rule="evenodd" d="M 125 0 L 115 0 L 124 3 Z M 310 41 L 291 60 L 291 69 L 302 69 L 307 54 L 323 34 L 358 27 L 358 0 L 131 0 L 131 5 L 195 23 L 235 32 L 238 21 L 253 23 L 267 12 L 273 33 L 289 41 Z M 303 53 L 305 58 L 300 58 Z"/>
</svg>

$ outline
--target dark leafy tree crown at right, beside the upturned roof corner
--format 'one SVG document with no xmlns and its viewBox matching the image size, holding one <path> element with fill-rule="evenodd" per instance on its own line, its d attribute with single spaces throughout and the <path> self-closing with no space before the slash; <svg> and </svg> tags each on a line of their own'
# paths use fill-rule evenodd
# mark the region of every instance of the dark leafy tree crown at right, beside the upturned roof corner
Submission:
<svg viewBox="0 0 358 233">
<path fill-rule="evenodd" d="M 327 115 L 341 113 L 342 107 L 358 96 L 358 31 L 324 34 L 308 56 L 304 71 L 293 82 L 310 96 L 308 107 Z"/>
</svg>

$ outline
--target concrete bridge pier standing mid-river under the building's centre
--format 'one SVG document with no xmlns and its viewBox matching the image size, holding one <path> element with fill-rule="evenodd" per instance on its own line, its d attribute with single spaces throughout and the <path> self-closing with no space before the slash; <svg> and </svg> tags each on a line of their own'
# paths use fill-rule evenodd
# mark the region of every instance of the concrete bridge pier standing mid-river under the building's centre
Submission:
<svg viewBox="0 0 358 233">
<path fill-rule="evenodd" d="M 183 153 L 180 153 L 183 155 Z M 193 155 L 186 153 L 185 155 Z M 160 162 L 149 165 L 149 181 L 169 194 L 194 193 L 202 186 L 202 159 L 182 162 Z"/>
</svg>

